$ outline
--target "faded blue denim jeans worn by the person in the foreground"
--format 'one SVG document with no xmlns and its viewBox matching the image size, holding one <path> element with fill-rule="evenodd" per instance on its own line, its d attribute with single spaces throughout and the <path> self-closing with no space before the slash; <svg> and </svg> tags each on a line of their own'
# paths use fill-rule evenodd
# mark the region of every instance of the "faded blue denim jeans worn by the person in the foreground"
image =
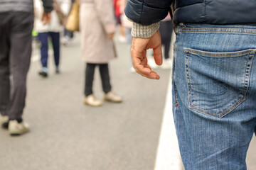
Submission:
<svg viewBox="0 0 256 170">
<path fill-rule="evenodd" d="M 245 170 L 256 127 L 256 26 L 176 28 L 173 106 L 186 170 Z"/>
</svg>

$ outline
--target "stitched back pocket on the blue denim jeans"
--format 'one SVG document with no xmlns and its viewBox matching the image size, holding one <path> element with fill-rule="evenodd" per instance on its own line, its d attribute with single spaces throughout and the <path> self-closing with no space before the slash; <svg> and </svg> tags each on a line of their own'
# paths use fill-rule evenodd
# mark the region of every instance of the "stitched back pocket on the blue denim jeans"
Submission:
<svg viewBox="0 0 256 170">
<path fill-rule="evenodd" d="M 256 50 L 184 51 L 190 108 L 222 118 L 245 101 Z"/>
</svg>

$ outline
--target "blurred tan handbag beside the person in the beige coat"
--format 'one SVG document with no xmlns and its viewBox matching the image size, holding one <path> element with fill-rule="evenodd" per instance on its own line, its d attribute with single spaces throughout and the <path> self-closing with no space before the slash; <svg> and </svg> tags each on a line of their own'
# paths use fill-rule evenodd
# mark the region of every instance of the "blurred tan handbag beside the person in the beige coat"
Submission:
<svg viewBox="0 0 256 170">
<path fill-rule="evenodd" d="M 70 31 L 79 31 L 79 0 L 75 0 L 72 4 L 70 14 L 65 25 L 65 28 Z"/>
</svg>

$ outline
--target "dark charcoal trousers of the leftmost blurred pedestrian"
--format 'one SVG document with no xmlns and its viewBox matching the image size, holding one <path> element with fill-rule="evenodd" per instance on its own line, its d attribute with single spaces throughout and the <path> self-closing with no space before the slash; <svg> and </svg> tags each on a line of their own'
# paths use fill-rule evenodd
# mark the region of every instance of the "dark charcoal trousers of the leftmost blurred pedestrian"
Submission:
<svg viewBox="0 0 256 170">
<path fill-rule="evenodd" d="M 22 120 L 31 61 L 33 13 L 0 13 L 0 111 Z"/>
</svg>

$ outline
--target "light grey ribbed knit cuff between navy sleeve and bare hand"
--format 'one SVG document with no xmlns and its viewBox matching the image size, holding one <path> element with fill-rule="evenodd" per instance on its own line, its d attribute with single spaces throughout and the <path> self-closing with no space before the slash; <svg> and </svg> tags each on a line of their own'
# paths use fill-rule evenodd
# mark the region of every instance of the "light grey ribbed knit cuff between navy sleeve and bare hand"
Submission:
<svg viewBox="0 0 256 170">
<path fill-rule="evenodd" d="M 132 37 L 134 38 L 150 38 L 156 30 L 159 29 L 159 23 L 153 23 L 149 26 L 142 26 L 139 23 L 132 24 Z"/>
</svg>

